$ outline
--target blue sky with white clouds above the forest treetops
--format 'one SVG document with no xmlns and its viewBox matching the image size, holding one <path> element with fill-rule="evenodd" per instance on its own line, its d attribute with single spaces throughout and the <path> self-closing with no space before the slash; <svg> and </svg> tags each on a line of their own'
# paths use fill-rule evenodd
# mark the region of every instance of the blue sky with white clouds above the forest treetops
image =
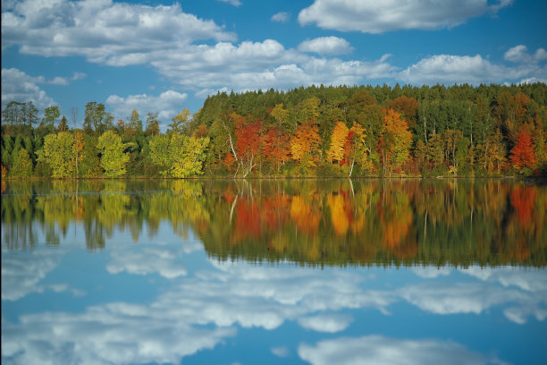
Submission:
<svg viewBox="0 0 547 365">
<path fill-rule="evenodd" d="M 218 91 L 547 82 L 547 2 L 2 0 L 2 109 L 89 101 L 162 129 Z"/>
</svg>

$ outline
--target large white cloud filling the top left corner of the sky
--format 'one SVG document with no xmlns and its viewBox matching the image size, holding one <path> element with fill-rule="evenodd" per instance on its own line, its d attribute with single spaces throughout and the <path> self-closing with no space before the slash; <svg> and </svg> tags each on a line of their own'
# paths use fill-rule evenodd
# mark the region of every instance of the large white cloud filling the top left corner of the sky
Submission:
<svg viewBox="0 0 547 365">
<path fill-rule="evenodd" d="M 183 51 L 196 40 L 233 40 L 215 21 L 172 6 L 112 0 L 26 0 L 4 8 L 2 47 L 23 54 L 81 55 L 101 64 L 145 64 L 158 50 Z"/>
</svg>

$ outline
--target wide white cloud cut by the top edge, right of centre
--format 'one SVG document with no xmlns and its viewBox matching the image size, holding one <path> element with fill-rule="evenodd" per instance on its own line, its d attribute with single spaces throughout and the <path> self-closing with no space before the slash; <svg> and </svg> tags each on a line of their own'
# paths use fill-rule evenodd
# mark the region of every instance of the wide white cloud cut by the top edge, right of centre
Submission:
<svg viewBox="0 0 547 365">
<path fill-rule="evenodd" d="M 329 30 L 383 33 L 391 30 L 434 30 L 455 27 L 467 19 L 495 13 L 512 3 L 501 0 L 316 0 L 299 13 L 301 25 Z"/>
</svg>

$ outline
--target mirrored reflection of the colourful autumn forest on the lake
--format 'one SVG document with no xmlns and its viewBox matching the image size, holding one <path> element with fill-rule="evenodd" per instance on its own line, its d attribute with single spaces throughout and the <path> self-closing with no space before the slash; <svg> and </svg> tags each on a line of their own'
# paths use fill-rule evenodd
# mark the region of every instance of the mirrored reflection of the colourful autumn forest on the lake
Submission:
<svg viewBox="0 0 547 365">
<path fill-rule="evenodd" d="M 3 182 L 4 183 L 4 182 Z M 116 230 L 191 229 L 218 259 L 303 265 L 544 267 L 547 186 L 502 180 L 82 181 L 3 185 L 3 244 L 59 244 L 83 225 L 89 250 Z"/>
</svg>

